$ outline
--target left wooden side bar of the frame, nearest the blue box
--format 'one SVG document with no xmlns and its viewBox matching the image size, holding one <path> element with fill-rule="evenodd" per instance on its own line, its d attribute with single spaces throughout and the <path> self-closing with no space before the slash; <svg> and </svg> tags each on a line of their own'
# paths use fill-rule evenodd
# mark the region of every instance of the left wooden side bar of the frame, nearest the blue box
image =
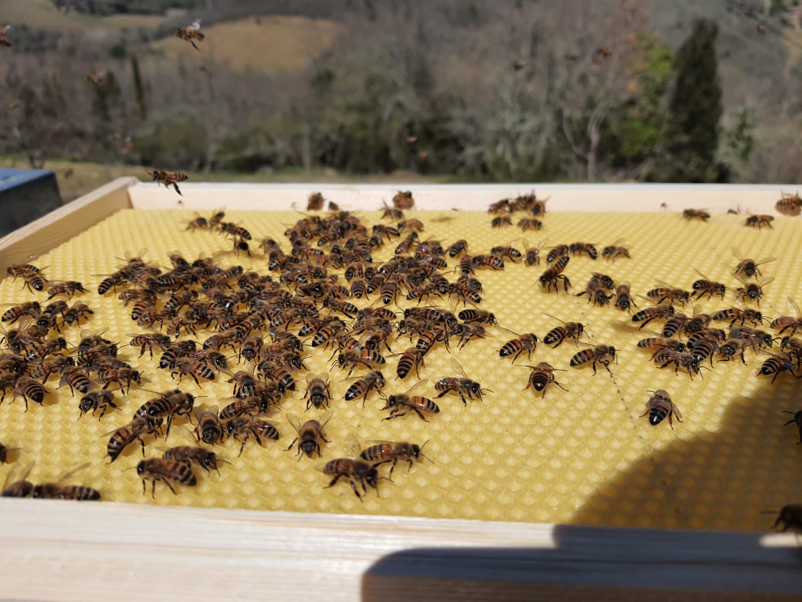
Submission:
<svg viewBox="0 0 802 602">
<path fill-rule="evenodd" d="M 128 187 L 137 182 L 136 177 L 119 177 L 0 238 L 0 279 L 8 266 L 47 253 L 119 209 L 130 209 Z"/>
</svg>

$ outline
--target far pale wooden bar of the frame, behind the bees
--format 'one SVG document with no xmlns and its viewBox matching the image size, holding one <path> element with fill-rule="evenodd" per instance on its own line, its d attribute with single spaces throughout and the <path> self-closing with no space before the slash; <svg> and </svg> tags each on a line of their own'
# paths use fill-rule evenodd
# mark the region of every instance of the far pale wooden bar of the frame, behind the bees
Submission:
<svg viewBox="0 0 802 602">
<path fill-rule="evenodd" d="M 306 209 L 313 192 L 322 193 L 341 209 L 379 209 L 393 195 L 411 190 L 419 209 L 487 209 L 492 201 L 516 197 L 533 189 L 549 198 L 549 211 L 668 211 L 707 209 L 713 214 L 738 209 L 743 214 L 778 215 L 781 185 L 694 184 L 492 184 L 492 185 L 348 185 L 348 184 L 213 184 L 184 183 L 184 197 L 155 184 L 138 184 L 130 190 L 135 209 Z M 182 205 L 178 204 L 182 202 Z M 744 215 L 746 218 L 746 215 Z"/>
</svg>

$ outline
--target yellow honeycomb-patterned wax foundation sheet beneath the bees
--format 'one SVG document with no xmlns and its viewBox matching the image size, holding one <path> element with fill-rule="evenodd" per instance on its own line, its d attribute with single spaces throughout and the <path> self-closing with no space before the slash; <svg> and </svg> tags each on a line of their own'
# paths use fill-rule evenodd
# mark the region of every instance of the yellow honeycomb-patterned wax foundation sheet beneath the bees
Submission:
<svg viewBox="0 0 802 602">
<path fill-rule="evenodd" d="M 266 236 L 289 245 L 283 233 L 300 218 L 296 212 L 229 211 L 227 219 L 241 222 L 254 235 Z M 367 226 L 379 222 L 379 212 L 359 212 Z M 51 253 L 38 258 L 51 279 L 77 279 L 92 283 L 91 292 L 78 298 L 95 311 L 87 327 L 107 328 L 106 336 L 121 343 L 128 333 L 138 332 L 128 308 L 115 295 L 97 295 L 95 289 L 103 275 L 119 265 L 126 252 L 136 254 L 146 249 L 146 259 L 167 264 L 168 251 L 178 250 L 186 258 L 212 256 L 219 265 L 240 264 L 265 271 L 265 258 L 236 257 L 231 242 L 219 234 L 186 232 L 184 224 L 191 211 L 121 211 Z M 487 251 L 517 239 L 520 230 L 492 229 L 485 212 L 420 211 L 408 212 L 407 218 L 419 218 L 425 225 L 422 238 L 437 238 L 450 243 L 466 238 L 473 253 Z M 800 283 L 794 258 L 800 245 L 800 222 L 778 218 L 772 230 L 743 227 L 743 216 L 715 215 L 711 222 L 685 222 L 678 214 L 572 214 L 550 212 L 545 229 L 530 235 L 548 239 L 548 244 L 575 241 L 596 242 L 600 246 L 626 238 L 631 259 L 614 263 L 573 258 L 565 270 L 581 291 L 593 271 L 601 271 L 620 281 L 630 281 L 635 295 L 643 295 L 662 279 L 690 289 L 699 275 L 731 287 L 737 284 L 731 270 L 737 260 L 731 254 L 734 244 L 753 258 L 776 256 L 778 260 L 763 266 L 764 275 L 776 280 L 765 291 L 760 308 L 764 315 L 787 314 L 788 295 L 798 295 Z M 386 260 L 395 244 L 374 254 Z M 453 266 L 454 261 L 450 264 Z M 593 344 L 613 344 L 618 349 L 618 364 L 593 375 L 590 368 L 569 368 L 569 360 L 578 351 L 572 344 L 551 349 L 538 344 L 532 363 L 548 361 L 557 372 L 557 380 L 568 392 L 552 387 L 545 398 L 533 395 L 525 387 L 528 370 L 500 359 L 498 350 L 509 338 L 507 333 L 490 329 L 486 340 L 472 341 L 463 350 L 452 353 L 436 348 L 426 357 L 420 376 L 429 384 L 424 390 L 434 397 L 431 384 L 443 376 L 452 376 L 450 364 L 456 357 L 468 376 L 492 388 L 484 402 L 470 402 L 466 407 L 458 397 L 437 400 L 439 415 L 429 423 L 414 414 L 394 421 L 380 409 L 383 401 L 371 397 L 363 407 L 346 402 L 347 384 L 340 382 L 344 373 L 332 371 L 331 393 L 334 417 L 326 428 L 331 440 L 323 448 L 326 458 L 347 455 L 347 441 L 355 435 L 362 441 L 428 441 L 425 449 L 434 463 L 421 462 L 407 472 L 399 465 L 394 482 L 383 482 L 381 497 L 371 492 L 363 501 L 350 488 L 338 484 L 323 489 L 325 475 L 314 462 L 286 451 L 295 436 L 285 415 L 276 417 L 282 434 L 278 442 L 264 448 L 249 444 L 241 458 L 239 445 L 227 442 L 218 454 L 231 462 L 217 474 L 200 474 L 194 488 L 183 488 L 173 496 L 166 488 L 157 490 L 156 499 L 143 495 L 134 470 L 141 458 L 136 445 L 126 449 L 111 465 L 103 458 L 107 437 L 102 437 L 130 420 L 136 409 L 153 397 L 148 391 L 132 388 L 119 405 L 120 412 L 102 420 L 79 415 L 77 397 L 64 388 L 48 388 L 51 395 L 43 406 L 30 405 L 24 412 L 20 401 L 10 397 L 0 405 L 0 441 L 22 447 L 22 457 L 35 459 L 30 479 L 43 482 L 83 462 L 91 462 L 79 474 L 79 481 L 94 486 L 103 498 L 120 502 L 169 503 L 192 506 L 240 507 L 264 510 L 294 510 L 373 515 L 415 515 L 434 518 L 463 518 L 537 523 L 612 524 L 617 526 L 689 527 L 730 530 L 764 530 L 770 520 L 763 510 L 776 509 L 802 493 L 796 478 L 800 453 L 794 443 L 797 433 L 784 427 L 788 415 L 782 410 L 800 409 L 797 384 L 788 374 L 769 384 L 755 376 L 763 357 L 747 354 L 747 366 L 739 363 L 716 364 L 703 378 L 691 380 L 687 374 L 658 370 L 649 354 L 636 348 L 641 338 L 630 316 L 611 307 L 593 307 L 585 298 L 547 294 L 537 287 L 540 269 L 507 262 L 504 270 L 482 270 L 478 277 L 486 299 L 481 308 L 495 313 L 502 327 L 515 332 L 536 332 L 543 336 L 558 322 L 544 312 L 564 320 L 588 325 Z M 30 299 L 20 290 L 20 282 L 6 279 L 0 284 L 0 302 L 18 303 Z M 43 301 L 47 295 L 37 295 Z M 353 300 L 353 299 L 352 299 Z M 371 299 L 372 300 L 372 299 Z M 367 303 L 370 303 L 368 301 Z M 367 303 L 356 302 L 363 306 Z M 636 297 L 636 303 L 649 303 Z M 402 302 L 402 307 L 406 306 Z M 446 303 L 448 305 L 448 303 Z M 704 301 L 707 311 L 729 307 L 727 299 Z M 689 308 L 690 311 L 690 308 Z M 77 344 L 80 328 L 67 332 L 67 340 Z M 199 339 L 211 333 L 199 333 Z M 403 351 L 406 341 L 391 342 L 394 351 Z M 175 386 L 164 371 L 156 368 L 157 357 L 124 348 L 120 356 L 139 367 L 149 382 L 144 387 L 154 391 Z M 306 350 L 310 372 L 328 371 L 330 352 Z M 518 364 L 525 363 L 518 360 Z M 526 362 L 528 363 L 528 362 Z M 387 376 L 395 376 L 395 359 L 390 359 Z M 303 373 L 297 375 L 300 392 L 282 403 L 282 412 L 304 413 L 301 400 L 305 388 Z M 414 379 L 414 377 L 413 377 Z M 388 378 L 386 393 L 403 392 L 414 380 Z M 184 380 L 182 388 L 197 395 L 204 404 L 225 405 L 232 393 L 225 380 L 196 387 Z M 683 422 L 650 426 L 640 417 L 649 397 L 647 389 L 665 388 L 683 413 Z M 790 404 L 790 405 L 789 405 Z M 148 456 L 159 454 L 156 445 L 179 445 L 171 434 L 165 444 L 150 443 Z M 14 465 L 12 465 L 14 466 Z M 5 475 L 8 468 L 0 474 Z M 200 471 L 202 472 L 202 471 Z M 383 470 L 387 474 L 387 470 Z M 78 477 L 76 477 L 78 478 Z"/>
</svg>

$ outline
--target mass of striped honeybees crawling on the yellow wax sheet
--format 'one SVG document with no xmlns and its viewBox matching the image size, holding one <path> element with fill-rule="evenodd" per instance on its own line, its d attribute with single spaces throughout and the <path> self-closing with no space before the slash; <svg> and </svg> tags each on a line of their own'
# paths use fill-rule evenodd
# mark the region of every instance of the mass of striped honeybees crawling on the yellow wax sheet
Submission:
<svg viewBox="0 0 802 602">
<path fill-rule="evenodd" d="M 314 193 L 309 206 L 322 208 L 325 202 L 322 195 Z M 272 238 L 259 243 L 268 274 L 244 270 L 241 266 L 217 266 L 211 258 L 188 260 L 176 252 L 168 254 L 171 264 L 168 270 L 136 257 L 128 258 L 115 273 L 107 275 L 99 284 L 98 293 L 116 293 L 126 307 L 131 307 L 132 321 L 142 329 L 130 335 L 130 345 L 139 350 L 140 358 L 147 353 L 154 363 L 157 359 L 157 369 L 169 371 L 176 380 L 176 388 L 156 393 L 156 397 L 133 413 L 127 425 L 107 433 L 110 462 L 115 462 L 128 445 L 137 442 L 145 455 L 148 437 L 167 438 L 173 421 L 188 421 L 194 428 L 176 427 L 183 445 L 157 446 L 163 454 L 145 458 L 137 464 L 136 471 L 142 478 L 144 491 L 148 481 L 153 488 L 156 482 L 163 482 L 174 493 L 177 486 L 194 486 L 197 478 L 193 469 L 219 472 L 219 465 L 225 462 L 210 447 L 233 438 L 242 454 L 248 441 L 258 445 L 277 441 L 281 425 L 269 418 L 282 409 L 282 402 L 291 393 L 300 395 L 302 390 L 306 410 L 314 409 L 319 414 L 307 419 L 286 413 L 295 434 L 287 449 L 294 448 L 299 460 L 322 458 L 322 445 L 330 442 L 326 438 L 326 425 L 334 414 L 330 409 L 330 374 L 307 372 L 306 387 L 298 378 L 298 372 L 306 369 L 305 358 L 316 348 L 331 352 L 331 370 L 339 369 L 346 376 L 349 386 L 345 401 L 361 400 L 364 405 L 371 397 L 377 397 L 383 402 L 387 421 L 407 416 L 431 421 L 440 413 L 435 400 L 441 397 L 450 394 L 467 405 L 468 401 L 482 400 L 486 393 L 492 393 L 469 376 L 456 358 L 452 358 L 452 372 L 435 379 L 436 397 L 423 395 L 428 380 L 418 376 L 418 369 L 425 365 L 432 349 L 458 352 L 472 340 L 491 336 L 489 328 L 509 335 L 498 354 L 513 363 L 523 354 L 531 361 L 539 342 L 559 348 L 567 340 L 581 346 L 570 357 L 570 368 L 588 366 L 595 374 L 598 367 L 603 367 L 611 372 L 610 364 L 617 361 L 618 350 L 609 344 L 581 341 L 588 324 L 554 318 L 556 323 L 542 339 L 533 332 L 517 333 L 500 327 L 492 312 L 480 309 L 484 287 L 477 274 L 482 270 L 504 270 L 507 262 L 540 266 L 542 260 L 547 269 L 538 278 L 541 287 L 546 292 L 567 292 L 573 287 L 564 271 L 572 259 L 597 261 L 601 255 L 611 264 L 628 259 L 630 249 L 623 240 L 607 246 L 573 242 L 549 247 L 545 243 L 531 247 L 524 241 L 523 253 L 505 245 L 471 254 L 465 240 L 452 244 L 431 238 L 423 240 L 420 234 L 423 223 L 405 219 L 403 215 L 403 210 L 413 203 L 411 193 L 399 192 L 392 206 L 384 206 L 383 223 L 370 230 L 346 211 L 333 209 L 323 216 L 306 215 L 286 230 L 289 247 Z M 534 194 L 525 195 L 498 201 L 491 205 L 490 211 L 504 218 L 516 211 L 537 215 L 541 218 L 537 226 L 521 227 L 541 230 L 545 201 Z M 694 215 L 689 217 L 689 212 Z M 706 221 L 709 216 L 703 213 L 688 209 L 683 215 Z M 210 230 L 232 236 L 235 251 L 249 252 L 247 243 L 253 242 L 249 231 L 224 220 L 225 212 L 215 211 L 209 218 L 192 219 L 186 230 Z M 375 262 L 372 254 L 385 245 L 394 248 L 393 256 L 387 262 Z M 766 354 L 759 374 L 772 376 L 772 382 L 782 372 L 796 376 L 802 366 L 802 340 L 794 336 L 802 328 L 796 303 L 791 302 L 791 315 L 771 321 L 776 335 L 758 328 L 766 320 L 759 311 L 759 302 L 764 287 L 772 281 L 771 277 L 763 277 L 760 266 L 774 258 L 755 261 L 744 258 L 737 250 L 733 253 L 738 260 L 733 273 L 739 285 L 735 287 L 714 282 L 699 273 L 700 278 L 688 290 L 658 282 L 639 302 L 649 303 L 648 307 L 638 307 L 634 299 L 637 295 L 630 293 L 629 283 L 593 272 L 577 296 L 586 297 L 587 303 L 599 307 L 629 313 L 640 328 L 662 321 L 662 332 L 648 331 L 650 336 L 637 344 L 651 353 L 659 368 L 673 367 L 675 372 L 687 372 L 693 378 L 704 368 L 704 361 L 709 360 L 712 367 L 716 356 L 719 361 L 740 360 L 745 364 L 744 353 L 751 349 Z M 46 288 L 42 270 L 30 263 L 12 266 L 9 275 L 24 279 L 31 291 Z M 63 294 L 83 290 L 79 283 L 75 284 L 78 286 L 72 287 L 71 292 L 66 287 Z M 734 295 L 731 307 L 704 313 L 697 304 L 692 306 L 691 315 L 681 311 L 687 304 L 706 297 L 726 299 L 729 291 Z M 372 301 L 367 307 L 357 307 L 351 298 Z M 402 312 L 390 308 L 401 307 L 404 300 L 408 307 Z M 47 339 L 50 328 L 58 331 L 80 323 L 89 315 L 91 310 L 85 305 L 67 307 L 59 302 L 41 310 L 37 302 L 31 301 L 6 311 L 2 318 L 5 322 L 22 319 L 38 327 L 47 326 L 38 337 L 25 329 L 29 327 L 27 324 L 20 327 L 22 333 L 6 334 L 9 352 L 2 358 L 3 369 L 14 372 L 14 397 L 41 403 L 41 398 L 31 397 L 30 392 L 22 390 L 24 387 L 17 392 L 18 380 L 43 377 L 47 381 L 51 374 L 60 374 L 61 384 L 83 394 L 80 413 L 89 410 L 95 413 L 99 409 L 102 419 L 107 409 L 119 409 L 119 400 L 114 397 L 116 391 L 127 392 L 131 386 L 142 384 L 144 378 L 139 368 L 117 359 L 122 344 L 107 340 L 102 332 L 82 332 L 75 350 L 51 342 L 59 337 Z M 714 327 L 717 322 L 728 322 L 728 332 Z M 199 336 L 199 332 L 207 332 L 208 336 Z M 404 342 L 407 336 L 407 347 L 394 352 L 391 346 Z M 774 346 L 778 343 L 780 349 L 776 351 Z M 47 348 L 47 352 L 36 352 L 39 348 Z M 386 391 L 383 370 L 390 358 L 397 359 L 398 380 L 409 378 L 413 372 L 418 377 L 404 391 Z M 549 386 L 555 384 L 567 391 L 555 379 L 558 368 L 551 364 L 539 362 L 523 367 L 529 368 L 524 390 L 531 388 L 545 397 Z M 354 371 L 358 374 L 352 377 Z M 180 388 L 184 380 L 196 384 L 227 380 L 233 387 L 233 397 L 222 409 L 217 405 L 198 406 L 196 396 Z M 12 386 L 10 380 L 2 380 L 3 384 L 6 382 Z M 670 393 L 665 390 L 649 393 L 643 416 L 648 416 L 652 425 L 667 418 L 673 429 L 673 419 L 681 421 L 682 414 Z M 799 425 L 802 438 L 802 412 L 794 413 L 788 424 Z M 398 462 L 412 466 L 427 458 L 422 451 L 425 445 L 425 442 L 421 445 L 381 441 L 363 446 L 354 437 L 349 457 L 334 458 L 319 469 L 330 479 L 328 486 L 348 482 L 361 499 L 368 487 L 378 492 L 379 481 L 391 478 Z M 0 452 L 0 460 L 5 460 L 5 448 L 0 448 Z M 387 477 L 379 474 L 383 465 L 391 466 Z M 58 497 L 99 497 L 92 493 L 95 490 L 83 486 L 51 483 L 45 487 L 26 483 L 23 473 L 22 478 L 6 483 L 3 494 L 43 497 L 45 490 L 57 491 Z M 784 524 L 793 526 L 793 515 L 791 522 L 784 519 Z"/>
</svg>

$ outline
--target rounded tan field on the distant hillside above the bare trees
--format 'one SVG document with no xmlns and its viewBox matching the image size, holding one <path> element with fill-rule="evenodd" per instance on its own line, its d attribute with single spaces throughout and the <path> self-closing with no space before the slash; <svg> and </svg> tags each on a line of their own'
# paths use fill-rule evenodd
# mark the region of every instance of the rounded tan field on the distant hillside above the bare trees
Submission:
<svg viewBox="0 0 802 602">
<path fill-rule="evenodd" d="M 202 31 L 204 59 L 245 71 L 299 71 L 331 47 L 342 27 L 324 19 L 265 16 L 217 23 Z M 168 59 L 193 51 L 175 37 L 161 39 L 150 48 Z"/>
</svg>

